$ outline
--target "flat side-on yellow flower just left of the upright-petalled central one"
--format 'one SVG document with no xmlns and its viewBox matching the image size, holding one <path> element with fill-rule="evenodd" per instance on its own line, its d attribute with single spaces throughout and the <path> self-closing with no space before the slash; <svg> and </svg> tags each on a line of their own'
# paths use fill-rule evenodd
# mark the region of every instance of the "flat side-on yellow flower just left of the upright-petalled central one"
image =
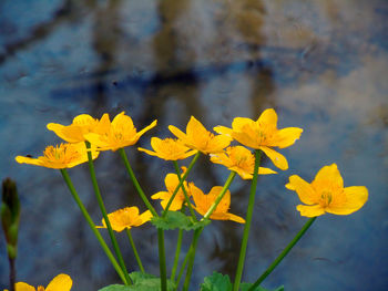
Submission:
<svg viewBox="0 0 388 291">
<path fill-rule="evenodd" d="M 181 141 L 173 138 L 161 139 L 157 137 L 151 138 L 151 146 L 155 152 L 139 147 L 137 149 L 151 156 L 156 156 L 165 160 L 184 159 L 194 155 L 197 150 L 190 149 Z"/>
</svg>

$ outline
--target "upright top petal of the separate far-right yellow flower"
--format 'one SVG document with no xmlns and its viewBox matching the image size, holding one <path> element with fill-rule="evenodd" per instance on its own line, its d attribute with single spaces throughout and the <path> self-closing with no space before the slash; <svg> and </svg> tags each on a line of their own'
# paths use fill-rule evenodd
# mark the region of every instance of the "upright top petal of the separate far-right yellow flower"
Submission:
<svg viewBox="0 0 388 291">
<path fill-rule="evenodd" d="M 336 191 L 336 189 L 344 188 L 344 180 L 336 164 L 330 166 L 325 166 L 315 176 L 312 183 L 315 189 L 330 189 Z"/>
</svg>

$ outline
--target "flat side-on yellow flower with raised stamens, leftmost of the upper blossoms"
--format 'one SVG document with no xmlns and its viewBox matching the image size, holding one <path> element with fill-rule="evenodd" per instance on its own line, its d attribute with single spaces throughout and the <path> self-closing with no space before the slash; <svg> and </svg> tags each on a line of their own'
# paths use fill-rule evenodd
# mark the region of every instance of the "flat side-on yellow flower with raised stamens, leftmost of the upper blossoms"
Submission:
<svg viewBox="0 0 388 291">
<path fill-rule="evenodd" d="M 99 152 L 92 148 L 92 158 L 94 159 L 98 156 Z M 17 156 L 16 160 L 19 164 L 30 164 L 47 168 L 72 168 L 88 162 L 86 146 L 85 143 L 48 146 L 43 152 L 43 156 L 38 158 Z"/>
</svg>

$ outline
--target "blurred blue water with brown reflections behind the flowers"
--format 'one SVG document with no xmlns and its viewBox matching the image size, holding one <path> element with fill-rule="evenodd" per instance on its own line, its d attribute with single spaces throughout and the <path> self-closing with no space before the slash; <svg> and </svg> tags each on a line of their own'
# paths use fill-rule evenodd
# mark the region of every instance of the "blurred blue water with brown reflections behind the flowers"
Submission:
<svg viewBox="0 0 388 291">
<path fill-rule="evenodd" d="M 120 282 L 60 173 L 14 162 L 60 142 L 48 123 L 125 111 L 137 128 L 159 121 L 137 144 L 150 148 L 151 136 L 171 136 L 167 126 L 184 128 L 191 115 L 212 128 L 274 107 L 280 128 L 304 133 L 280 150 L 289 169 L 259 179 L 243 280 L 256 280 L 306 221 L 295 209 L 297 196 L 284 187 L 288 176 L 312 180 L 337 163 L 345 186 L 368 187 L 368 202 L 350 216 L 319 217 L 263 285 L 388 290 L 387 15 L 385 0 L 2 0 L 0 178 L 16 179 L 21 197 L 18 281 L 45 285 L 63 272 L 74 291 Z M 126 152 L 147 195 L 163 190 L 172 165 L 136 147 Z M 264 165 L 273 167 L 267 159 Z M 109 211 L 132 205 L 145 210 L 116 153 L 102 153 L 95 167 Z M 99 222 L 88 166 L 69 173 Z M 203 157 L 190 180 L 208 191 L 227 175 Z M 248 189 L 235 179 L 233 214 L 245 216 Z M 146 270 L 157 274 L 155 230 L 145 225 L 132 233 Z M 242 233 L 238 224 L 212 222 L 198 243 L 191 290 L 213 270 L 233 279 Z M 170 269 L 176 232 L 165 237 Z M 123 233 L 119 242 L 136 270 Z"/>
</svg>

